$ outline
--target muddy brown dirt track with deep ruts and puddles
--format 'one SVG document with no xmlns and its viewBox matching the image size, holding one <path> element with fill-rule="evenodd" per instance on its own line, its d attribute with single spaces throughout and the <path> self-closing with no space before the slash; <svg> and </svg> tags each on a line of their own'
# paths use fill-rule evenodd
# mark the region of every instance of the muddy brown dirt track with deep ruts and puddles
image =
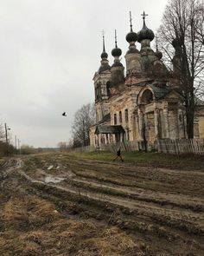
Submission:
<svg viewBox="0 0 204 256">
<path fill-rule="evenodd" d="M 38 254 L 5 255 L 204 255 L 204 172 L 79 160 L 56 154 L 5 162 L 1 180 L 2 233 L 8 225 L 5 209 L 10 200 L 15 201 L 15 194 L 17 198 L 44 200 L 63 220 L 78 224 L 86 221 L 84 232 L 95 231 L 89 239 L 99 239 L 97 248 L 84 244 L 79 247 L 81 240 L 86 240 L 79 236 L 75 250 L 65 244 L 61 249 L 53 248 L 51 254 L 48 248 L 41 249 L 45 244 L 42 240 L 37 246 Z M 21 216 L 15 221 L 18 219 Z M 12 230 L 16 230 L 15 225 Z M 107 233 L 112 234 L 109 237 Z M 116 239 L 118 234 L 120 240 Z M 115 237 L 114 242 L 111 237 Z M 101 245 L 104 240 L 108 251 Z M 1 245 L 4 244 L 0 240 Z M 5 246 L 3 250 L 10 252 Z"/>
</svg>

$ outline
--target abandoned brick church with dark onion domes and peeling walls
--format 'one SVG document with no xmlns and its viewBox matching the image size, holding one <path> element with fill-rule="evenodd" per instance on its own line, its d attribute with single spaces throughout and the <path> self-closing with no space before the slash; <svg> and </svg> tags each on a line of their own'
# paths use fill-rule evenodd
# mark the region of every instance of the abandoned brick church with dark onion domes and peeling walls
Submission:
<svg viewBox="0 0 204 256">
<path fill-rule="evenodd" d="M 160 139 L 187 138 L 185 106 L 176 79 L 179 58 L 177 42 L 172 42 L 175 56 L 172 71 L 163 63 L 163 54 L 154 51 L 150 42 L 154 32 L 146 26 L 138 33 L 132 30 L 126 36 L 130 44 L 124 65 L 120 62 L 122 50 L 112 49 L 114 62 L 109 64 L 103 52 L 101 65 L 93 77 L 95 90 L 96 123 L 90 128 L 90 143 L 94 147 L 118 141 L 148 141 L 154 145 Z M 137 49 L 136 43 L 140 43 Z M 204 106 L 200 101 L 194 115 L 194 138 L 204 138 Z"/>
</svg>

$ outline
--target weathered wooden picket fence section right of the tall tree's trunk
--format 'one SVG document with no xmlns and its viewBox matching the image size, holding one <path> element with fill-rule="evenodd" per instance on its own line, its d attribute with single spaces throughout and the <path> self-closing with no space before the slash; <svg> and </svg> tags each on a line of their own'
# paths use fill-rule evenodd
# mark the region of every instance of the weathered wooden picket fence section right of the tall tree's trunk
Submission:
<svg viewBox="0 0 204 256">
<path fill-rule="evenodd" d="M 156 141 L 158 152 L 169 154 L 204 154 L 204 139 L 165 139 Z"/>
</svg>

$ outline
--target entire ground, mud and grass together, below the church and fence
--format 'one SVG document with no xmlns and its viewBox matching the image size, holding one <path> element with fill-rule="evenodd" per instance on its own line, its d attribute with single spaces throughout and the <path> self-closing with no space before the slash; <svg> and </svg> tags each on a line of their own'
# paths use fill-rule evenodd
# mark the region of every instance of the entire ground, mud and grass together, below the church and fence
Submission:
<svg viewBox="0 0 204 256">
<path fill-rule="evenodd" d="M 204 255 L 203 159 L 123 156 L 0 160 L 0 255 Z"/>
</svg>

